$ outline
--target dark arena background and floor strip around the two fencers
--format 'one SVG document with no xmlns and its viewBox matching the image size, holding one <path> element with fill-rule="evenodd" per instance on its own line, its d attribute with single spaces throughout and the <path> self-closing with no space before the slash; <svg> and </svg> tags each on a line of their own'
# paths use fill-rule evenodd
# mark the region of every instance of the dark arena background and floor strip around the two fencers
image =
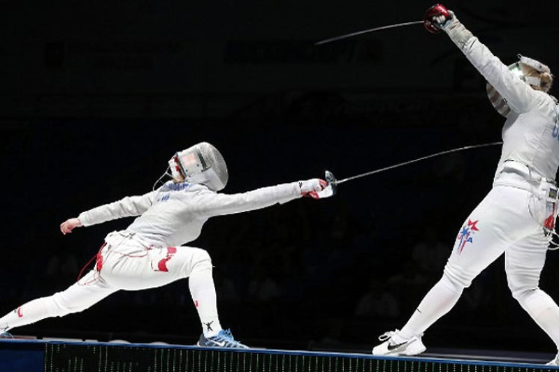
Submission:
<svg viewBox="0 0 559 372">
<path fill-rule="evenodd" d="M 504 119 L 486 82 L 414 1 L 34 1 L 3 8 L 0 315 L 64 290 L 123 219 L 62 235 L 98 205 L 150 191 L 175 151 L 214 144 L 226 193 L 351 177 L 474 144 Z M 444 3 L 504 63 L 559 71 L 559 3 Z M 558 87 L 551 94 L 558 95 Z M 499 258 L 423 336 L 372 357 L 442 275 L 491 189 L 500 147 L 458 151 L 303 198 L 212 218 L 191 246 L 215 266 L 222 325 L 250 350 L 193 345 L 187 280 L 117 292 L 13 329 L 1 371 L 530 372 L 556 355 L 511 297 Z M 559 299 L 559 253 L 540 286 Z"/>
</svg>

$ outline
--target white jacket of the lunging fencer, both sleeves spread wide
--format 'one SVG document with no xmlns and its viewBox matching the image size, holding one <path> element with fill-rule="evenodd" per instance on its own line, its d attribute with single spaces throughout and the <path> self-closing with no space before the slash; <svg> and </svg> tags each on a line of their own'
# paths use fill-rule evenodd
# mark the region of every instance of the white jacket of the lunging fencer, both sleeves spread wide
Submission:
<svg viewBox="0 0 559 372">
<path fill-rule="evenodd" d="M 300 197 L 298 182 L 228 195 L 203 185 L 168 181 L 155 191 L 101 205 L 78 218 L 82 225 L 89 226 L 139 216 L 126 231 L 148 245 L 182 246 L 196 239 L 212 216 L 252 211 Z"/>
</svg>

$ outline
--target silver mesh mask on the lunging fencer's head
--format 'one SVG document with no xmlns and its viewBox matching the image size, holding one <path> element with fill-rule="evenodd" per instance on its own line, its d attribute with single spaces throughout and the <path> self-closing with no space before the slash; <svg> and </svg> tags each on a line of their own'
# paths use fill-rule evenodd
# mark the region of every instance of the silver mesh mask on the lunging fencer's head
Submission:
<svg viewBox="0 0 559 372">
<path fill-rule="evenodd" d="M 173 179 L 203 184 L 213 191 L 222 190 L 227 184 L 228 172 L 224 158 L 208 142 L 178 151 L 168 163 Z"/>
</svg>

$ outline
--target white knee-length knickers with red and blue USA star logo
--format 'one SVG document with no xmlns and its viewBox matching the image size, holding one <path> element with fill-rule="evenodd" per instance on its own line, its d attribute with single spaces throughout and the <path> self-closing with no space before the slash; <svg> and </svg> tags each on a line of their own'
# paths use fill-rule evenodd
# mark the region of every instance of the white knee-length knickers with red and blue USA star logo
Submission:
<svg viewBox="0 0 559 372">
<path fill-rule="evenodd" d="M 537 288 L 549 244 L 543 188 L 534 193 L 511 186 L 491 189 L 464 221 L 444 267 L 456 288 L 469 287 L 502 253 L 513 295 Z"/>
</svg>

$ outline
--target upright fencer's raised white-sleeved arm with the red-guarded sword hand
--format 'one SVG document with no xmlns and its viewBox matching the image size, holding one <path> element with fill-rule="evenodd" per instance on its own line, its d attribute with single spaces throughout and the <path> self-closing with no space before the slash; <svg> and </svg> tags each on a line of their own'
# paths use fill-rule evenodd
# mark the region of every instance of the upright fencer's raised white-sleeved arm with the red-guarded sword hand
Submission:
<svg viewBox="0 0 559 372">
<path fill-rule="evenodd" d="M 534 89 L 520 80 L 508 66 L 495 57 L 491 50 L 482 44 L 451 11 L 440 8 L 442 13 L 431 15 L 432 21 L 438 24 L 460 48 L 472 65 L 493 85 L 507 104 L 517 113 L 528 111 L 537 97 Z"/>
</svg>

